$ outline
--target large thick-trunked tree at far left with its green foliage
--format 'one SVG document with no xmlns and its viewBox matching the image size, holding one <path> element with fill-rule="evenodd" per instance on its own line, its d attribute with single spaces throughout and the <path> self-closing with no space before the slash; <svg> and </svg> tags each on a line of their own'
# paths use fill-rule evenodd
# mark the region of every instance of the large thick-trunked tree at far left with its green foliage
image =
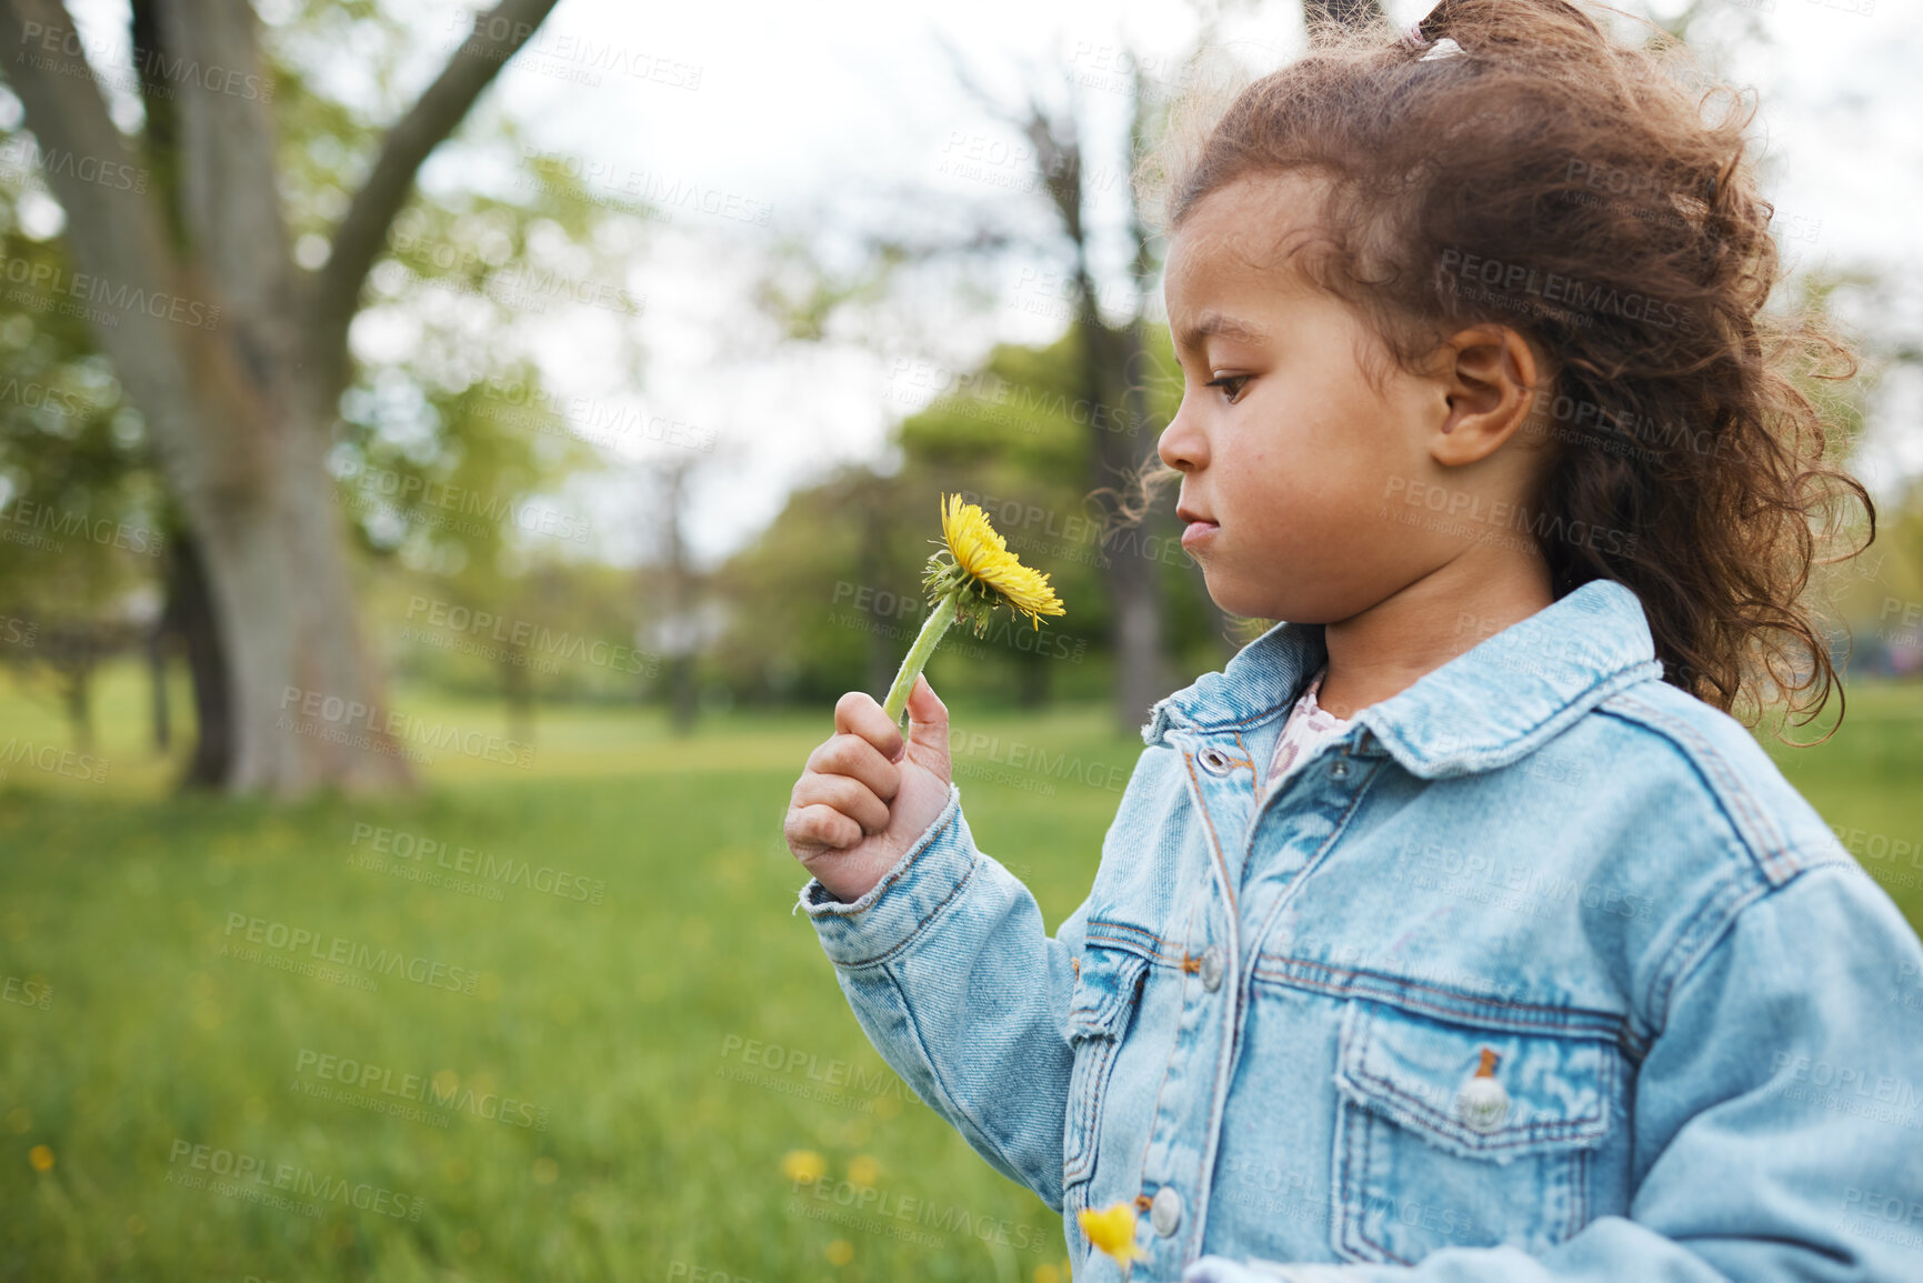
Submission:
<svg viewBox="0 0 1923 1283">
<path fill-rule="evenodd" d="M 60 4 L 0 4 L 0 35 L 33 52 L 6 67 L 17 98 L 0 123 L 10 154 L 38 162 L 0 177 L 10 281 L 27 283 L 10 292 L 21 310 L 0 331 L 0 360 L 10 377 L 71 389 L 52 408 L 38 398 L 0 415 L 0 506 L 15 523 L 131 525 L 158 554 L 146 569 L 162 571 L 69 539 L 63 560 L 15 541 L 21 556 L 0 573 L 21 612 L 48 621 L 35 646 L 46 658 L 100 650 L 77 625 L 54 627 L 77 616 L 100 623 L 102 644 L 125 644 L 125 629 L 100 631 L 131 610 L 108 598 L 158 579 L 160 619 L 194 675 L 188 783 L 300 792 L 404 779 L 400 756 L 275 729 L 288 689 L 385 702 L 344 525 L 369 552 L 452 571 L 448 592 L 465 598 L 498 592 L 517 569 L 508 527 L 571 539 L 567 517 L 525 496 L 587 456 L 540 410 L 533 369 L 519 387 L 535 394 L 504 414 L 492 367 L 517 315 L 577 298 L 583 283 L 608 290 L 585 271 L 608 258 L 583 265 L 583 246 L 602 221 L 633 217 L 594 208 L 565 173 L 544 173 L 521 200 L 413 187 L 548 8 L 504 0 L 477 13 L 417 100 L 369 112 L 304 69 L 377 29 L 356 44 L 387 50 L 392 71 L 406 31 L 373 4 L 308 6 L 263 38 L 246 4 L 140 0 L 133 87 L 90 63 L 102 50 Z M 187 71 L 215 63 L 231 75 L 213 88 Z M 496 135 L 517 140 L 506 125 Z M 348 329 L 363 310 L 419 329 L 406 364 L 354 360 Z M 58 608 L 27 581 L 62 585 Z M 83 581 L 88 592 L 73 592 Z M 508 689 L 525 706 L 525 683 Z"/>
</svg>

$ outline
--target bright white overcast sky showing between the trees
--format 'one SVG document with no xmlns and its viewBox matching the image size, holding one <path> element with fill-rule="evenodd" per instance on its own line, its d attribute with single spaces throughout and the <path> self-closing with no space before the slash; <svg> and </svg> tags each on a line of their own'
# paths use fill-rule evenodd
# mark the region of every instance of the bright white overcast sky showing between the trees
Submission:
<svg viewBox="0 0 1923 1283">
<path fill-rule="evenodd" d="M 75 8 L 88 27 L 125 21 L 115 0 Z M 1429 8 L 1429 0 L 1388 4 L 1400 23 Z M 396 100 L 433 75 L 469 10 L 417 4 L 406 12 L 419 23 L 419 40 L 400 77 L 410 83 L 387 87 Z M 1238 17 L 1229 35 L 1246 58 L 1275 65 L 1300 48 L 1300 4 L 1263 6 Z M 1794 233 L 1783 240 L 1792 262 L 1877 264 L 1910 283 L 1900 294 L 1915 296 L 1923 281 L 1913 231 L 1923 200 L 1919 6 L 1754 0 L 1706 12 L 1696 35 L 1708 48 L 1733 50 L 1727 75 L 1760 92 L 1765 183 L 1781 225 Z M 1046 304 L 1046 290 L 1013 267 L 969 281 L 988 306 L 963 310 L 942 294 L 921 300 L 890 354 L 771 348 L 748 304 L 760 250 L 781 235 L 833 229 L 871 208 L 871 192 L 921 187 L 971 204 L 1000 202 L 1006 221 L 1046 227 L 1044 198 L 1023 190 L 1019 135 L 962 90 L 940 40 L 962 50 L 977 81 L 1010 104 L 1031 87 L 1054 85 L 1061 94 L 1075 77 L 1090 131 L 1115 137 L 1117 50 L 1129 44 L 1152 73 L 1171 75 L 1192 38 L 1188 6 L 1173 0 L 562 0 L 502 73 L 488 106 L 519 121 L 544 150 L 579 158 L 590 183 L 610 192 L 679 183 L 721 214 L 681 208 L 673 221 L 654 225 L 648 248 L 635 256 L 629 289 L 646 292 L 633 323 L 646 350 L 638 387 L 621 346 L 623 323 L 610 314 L 531 317 L 527 342 L 569 392 L 640 404 L 715 433 L 690 531 L 700 558 L 712 562 L 762 529 L 788 489 L 840 460 L 883 458 L 890 423 L 913 408 L 890 396 L 902 390 L 890 383 L 896 360 L 919 354 L 960 365 L 998 339 L 1060 333 L 1056 310 L 1023 308 L 1038 296 Z M 610 67 L 610 52 L 629 73 Z M 354 85 L 360 65 L 342 50 L 344 85 Z M 637 67 L 646 73 L 633 75 Z M 975 175 L 944 171 L 944 160 L 963 154 L 977 158 Z M 1108 164 L 1119 167 L 1119 154 Z M 423 181 L 471 181 L 471 165 L 446 150 Z M 1885 485 L 1898 471 L 1923 471 L 1917 398 L 1892 396 L 1890 406 L 1860 462 Z M 638 546 L 623 529 L 637 521 L 635 494 L 633 479 L 610 479 L 585 498 L 617 556 Z"/>
</svg>

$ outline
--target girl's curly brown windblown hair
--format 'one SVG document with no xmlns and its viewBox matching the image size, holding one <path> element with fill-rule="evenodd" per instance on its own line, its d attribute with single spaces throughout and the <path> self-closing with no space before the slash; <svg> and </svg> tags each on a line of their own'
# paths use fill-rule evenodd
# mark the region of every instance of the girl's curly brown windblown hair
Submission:
<svg viewBox="0 0 1923 1283">
<path fill-rule="evenodd" d="M 1315 35 L 1225 112 L 1196 90 L 1177 104 L 1136 165 L 1144 204 L 1165 204 L 1173 235 L 1236 179 L 1327 179 L 1298 267 L 1396 362 L 1417 369 L 1488 321 L 1548 356 L 1535 535 L 1556 596 L 1615 579 L 1669 683 L 1738 716 L 1783 700 L 1802 721 L 1835 692 L 1840 721 L 1804 598 L 1858 510 L 1875 539 L 1875 506 L 1825 462 L 1840 429 L 1808 381 L 1848 379 L 1856 358 L 1821 317 L 1763 310 L 1783 269 L 1746 158 L 1754 104 L 1694 92 L 1681 42 L 1627 46 L 1563 0 L 1444 0 L 1410 35 Z M 1146 460 L 1125 516 L 1179 475 Z"/>
</svg>

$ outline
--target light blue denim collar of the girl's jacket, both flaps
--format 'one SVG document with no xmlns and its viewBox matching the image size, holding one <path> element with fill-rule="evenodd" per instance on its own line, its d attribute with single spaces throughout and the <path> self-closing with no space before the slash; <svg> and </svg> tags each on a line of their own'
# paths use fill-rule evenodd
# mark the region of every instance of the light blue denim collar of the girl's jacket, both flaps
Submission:
<svg viewBox="0 0 1923 1283">
<path fill-rule="evenodd" d="M 1171 727 L 1229 731 L 1283 716 L 1325 658 L 1321 625 L 1277 623 L 1219 673 L 1158 700 L 1142 742 L 1163 742 Z M 1363 708 L 1358 750 L 1379 741 L 1423 779 L 1483 771 L 1531 752 L 1615 691 L 1660 679 L 1642 602 L 1621 583 L 1592 579 Z"/>
</svg>

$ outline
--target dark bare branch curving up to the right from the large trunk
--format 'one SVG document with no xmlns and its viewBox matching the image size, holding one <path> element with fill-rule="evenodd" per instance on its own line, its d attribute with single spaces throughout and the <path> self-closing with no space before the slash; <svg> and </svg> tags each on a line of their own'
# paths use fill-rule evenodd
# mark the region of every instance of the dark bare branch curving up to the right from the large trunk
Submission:
<svg viewBox="0 0 1923 1283">
<path fill-rule="evenodd" d="M 502 65 L 535 35 L 556 0 L 500 0 L 475 15 L 475 33 L 381 144 L 381 156 L 335 227 L 327 264 L 315 275 L 308 335 L 317 383 L 338 389 L 346 379 L 348 321 L 360 308 L 362 281 L 381 256 L 387 229 L 413 190 L 413 175 L 473 108 Z"/>
</svg>

